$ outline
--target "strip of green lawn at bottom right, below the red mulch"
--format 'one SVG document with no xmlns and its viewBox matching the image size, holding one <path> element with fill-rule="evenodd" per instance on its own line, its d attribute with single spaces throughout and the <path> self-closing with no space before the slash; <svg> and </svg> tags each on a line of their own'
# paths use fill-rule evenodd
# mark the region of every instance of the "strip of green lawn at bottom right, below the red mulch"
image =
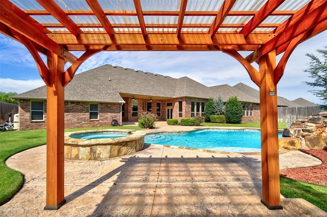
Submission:
<svg viewBox="0 0 327 217">
<path fill-rule="evenodd" d="M 281 177 L 281 193 L 286 198 L 303 198 L 327 212 L 327 187 Z"/>
</svg>

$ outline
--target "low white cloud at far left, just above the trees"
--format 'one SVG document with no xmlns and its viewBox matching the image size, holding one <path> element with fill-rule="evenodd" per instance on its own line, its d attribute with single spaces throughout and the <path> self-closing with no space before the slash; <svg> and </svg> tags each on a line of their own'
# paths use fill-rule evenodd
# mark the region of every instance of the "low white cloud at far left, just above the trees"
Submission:
<svg viewBox="0 0 327 217">
<path fill-rule="evenodd" d="M 26 91 L 33 90 L 43 85 L 45 84 L 41 78 L 35 80 L 15 80 L 11 78 L 0 78 L 0 92 L 6 93 L 24 93 Z"/>
</svg>

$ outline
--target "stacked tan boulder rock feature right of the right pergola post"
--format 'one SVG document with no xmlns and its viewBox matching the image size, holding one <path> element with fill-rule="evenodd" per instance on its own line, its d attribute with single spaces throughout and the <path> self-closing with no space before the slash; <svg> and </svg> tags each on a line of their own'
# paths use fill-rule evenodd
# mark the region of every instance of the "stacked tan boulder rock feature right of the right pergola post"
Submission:
<svg viewBox="0 0 327 217">
<path fill-rule="evenodd" d="M 327 143 L 327 113 L 311 115 L 296 120 L 289 128 L 284 129 L 283 137 L 279 138 L 279 148 L 323 149 Z"/>
</svg>

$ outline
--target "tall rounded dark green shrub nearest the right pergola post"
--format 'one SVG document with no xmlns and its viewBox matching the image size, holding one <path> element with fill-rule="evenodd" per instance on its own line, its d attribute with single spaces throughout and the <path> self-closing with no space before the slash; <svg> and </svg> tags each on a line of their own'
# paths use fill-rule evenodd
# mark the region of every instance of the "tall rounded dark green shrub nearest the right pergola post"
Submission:
<svg viewBox="0 0 327 217">
<path fill-rule="evenodd" d="M 242 122 L 242 103 L 237 96 L 230 97 L 226 102 L 225 118 L 227 123 L 240 124 Z"/>
</svg>

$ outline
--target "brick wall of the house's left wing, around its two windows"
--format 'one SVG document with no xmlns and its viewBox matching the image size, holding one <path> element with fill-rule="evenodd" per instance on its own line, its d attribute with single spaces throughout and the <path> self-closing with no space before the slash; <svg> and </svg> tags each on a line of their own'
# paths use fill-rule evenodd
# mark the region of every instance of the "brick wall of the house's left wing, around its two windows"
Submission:
<svg viewBox="0 0 327 217">
<path fill-rule="evenodd" d="M 65 101 L 65 128 L 110 126 L 112 119 L 120 122 L 121 104 L 98 103 L 99 120 L 89 119 L 89 102 Z M 44 101 L 44 121 L 31 121 L 31 101 L 20 100 L 19 129 L 46 128 L 46 101 Z"/>
</svg>

